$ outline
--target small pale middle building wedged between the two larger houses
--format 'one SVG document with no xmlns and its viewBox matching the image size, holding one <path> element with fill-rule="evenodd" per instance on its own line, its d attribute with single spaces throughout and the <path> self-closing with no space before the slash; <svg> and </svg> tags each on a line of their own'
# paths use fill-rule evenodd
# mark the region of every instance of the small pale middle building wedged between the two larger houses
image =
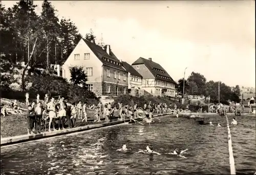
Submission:
<svg viewBox="0 0 256 175">
<path fill-rule="evenodd" d="M 140 73 L 127 62 L 122 61 L 122 66 L 128 72 L 128 89 L 141 89 L 142 76 Z"/>
</svg>

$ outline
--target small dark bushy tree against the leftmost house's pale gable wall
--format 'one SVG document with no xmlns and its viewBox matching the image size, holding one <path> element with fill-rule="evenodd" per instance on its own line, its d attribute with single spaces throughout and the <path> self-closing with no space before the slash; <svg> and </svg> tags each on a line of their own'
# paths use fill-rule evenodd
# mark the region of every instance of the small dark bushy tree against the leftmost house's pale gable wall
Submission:
<svg viewBox="0 0 256 175">
<path fill-rule="evenodd" d="M 71 74 L 70 81 L 73 82 L 74 85 L 82 85 L 83 87 L 87 88 L 86 81 L 88 78 L 87 74 L 83 70 L 83 67 L 70 67 L 69 70 Z"/>
</svg>

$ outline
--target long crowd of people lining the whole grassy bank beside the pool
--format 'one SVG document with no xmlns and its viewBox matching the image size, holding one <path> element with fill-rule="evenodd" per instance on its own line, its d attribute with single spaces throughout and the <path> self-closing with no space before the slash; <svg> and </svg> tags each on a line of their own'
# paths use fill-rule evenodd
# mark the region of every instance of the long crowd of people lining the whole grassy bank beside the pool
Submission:
<svg viewBox="0 0 256 175">
<path fill-rule="evenodd" d="M 118 120 L 125 119 L 135 119 L 142 117 L 148 119 L 149 122 L 152 121 L 153 114 L 162 114 L 162 113 L 190 113 L 188 110 L 189 105 L 186 106 L 186 109 L 180 109 L 176 104 L 167 105 L 166 103 L 158 104 L 148 104 L 145 103 L 143 106 L 138 104 L 126 104 L 118 103 L 118 106 L 113 106 L 111 103 L 102 104 L 101 102 L 98 105 L 88 105 L 86 102 L 79 101 L 78 103 L 70 103 L 69 100 L 65 97 L 49 97 L 48 94 L 45 95 L 44 100 L 40 100 L 39 94 L 37 94 L 36 101 L 29 102 L 29 94 L 26 94 L 26 105 L 27 105 L 27 131 L 28 135 L 34 135 L 41 133 L 42 129 L 47 129 L 51 131 L 51 126 L 53 130 L 55 125 L 58 126 L 58 130 L 65 129 L 66 123 L 68 123 L 68 128 L 76 127 L 76 119 L 82 120 L 82 122 L 88 122 L 87 110 L 95 111 L 93 122 L 101 122 L 100 116 L 103 115 L 103 120 L 105 122 L 111 122 L 114 117 L 114 112 L 118 112 Z M 17 100 L 14 100 L 9 104 L 12 107 L 12 111 L 7 111 L 7 108 L 4 105 L 1 105 L 1 114 L 4 116 L 9 113 L 20 114 L 23 113 L 26 109 L 19 107 Z M 198 113 L 206 113 L 202 111 L 203 107 L 198 105 Z M 220 104 L 210 104 L 209 112 L 225 114 L 236 113 L 237 108 L 229 106 L 229 110 L 222 103 Z M 244 113 L 244 106 L 241 106 L 241 113 Z M 56 124 L 56 121 L 58 123 Z M 91 121 L 91 120 L 90 120 Z M 33 132 L 34 131 L 34 132 Z"/>
</svg>

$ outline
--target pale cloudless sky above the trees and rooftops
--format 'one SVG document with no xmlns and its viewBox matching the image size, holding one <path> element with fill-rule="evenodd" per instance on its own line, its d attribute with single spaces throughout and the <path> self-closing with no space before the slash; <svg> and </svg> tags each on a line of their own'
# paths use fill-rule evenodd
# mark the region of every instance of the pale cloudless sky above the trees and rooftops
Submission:
<svg viewBox="0 0 256 175">
<path fill-rule="evenodd" d="M 12 7 L 17 1 L 2 1 Z M 176 81 L 255 87 L 254 1 L 50 1 L 82 36 L 92 29 L 121 60 L 152 58 Z M 42 1 L 34 1 L 41 12 Z"/>
</svg>

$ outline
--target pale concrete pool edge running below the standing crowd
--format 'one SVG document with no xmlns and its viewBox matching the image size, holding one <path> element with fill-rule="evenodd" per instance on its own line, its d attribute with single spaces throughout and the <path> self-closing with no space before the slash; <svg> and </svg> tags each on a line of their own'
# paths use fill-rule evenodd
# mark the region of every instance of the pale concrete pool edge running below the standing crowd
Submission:
<svg viewBox="0 0 256 175">
<path fill-rule="evenodd" d="M 161 117 L 161 116 L 166 116 L 170 115 L 172 113 L 165 113 L 165 114 L 156 114 L 153 116 L 155 117 Z M 113 117 L 118 118 L 118 117 Z M 104 120 L 104 119 L 101 119 Z M 141 121 L 141 118 L 134 119 L 135 121 Z M 94 119 L 88 120 L 89 122 L 94 121 Z M 132 121 L 132 122 L 135 122 Z M 1 138 L 1 146 L 6 146 L 6 145 L 12 145 L 12 144 L 17 144 L 17 143 L 24 143 L 24 142 L 29 142 L 33 140 L 39 140 L 39 139 L 45 139 L 45 138 L 50 138 L 50 137 L 55 137 L 55 136 L 60 136 L 60 135 L 67 135 L 71 133 L 76 133 L 76 132 L 82 132 L 85 130 L 91 130 L 91 129 L 96 129 L 96 128 L 102 128 L 106 126 L 115 126 L 123 123 L 130 122 L 130 119 L 125 119 L 124 120 L 118 120 L 118 121 L 113 121 L 109 123 L 96 123 L 96 124 L 90 124 L 90 125 L 85 125 L 85 126 L 77 126 L 73 127 L 70 129 L 63 129 L 63 130 L 56 130 L 52 132 L 45 132 L 45 133 L 40 133 L 36 135 L 20 135 L 20 136 L 14 136 L 14 137 L 6 137 L 6 138 Z"/>
</svg>

